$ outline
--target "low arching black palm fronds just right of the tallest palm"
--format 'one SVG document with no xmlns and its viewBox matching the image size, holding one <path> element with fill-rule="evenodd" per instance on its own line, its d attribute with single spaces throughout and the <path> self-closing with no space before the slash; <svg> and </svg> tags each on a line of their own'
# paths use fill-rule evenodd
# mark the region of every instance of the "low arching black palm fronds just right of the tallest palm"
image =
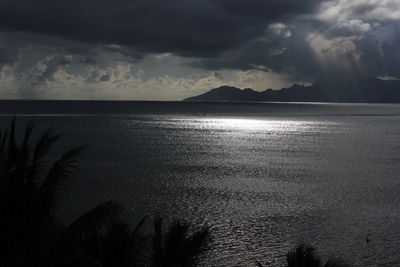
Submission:
<svg viewBox="0 0 400 267">
<path fill-rule="evenodd" d="M 103 267 L 144 266 L 147 238 L 140 233 L 143 218 L 133 229 L 124 222 L 123 209 L 106 202 L 68 226 L 53 255 L 64 266 L 90 261 Z M 67 265 L 70 264 L 70 265 Z"/>
</svg>

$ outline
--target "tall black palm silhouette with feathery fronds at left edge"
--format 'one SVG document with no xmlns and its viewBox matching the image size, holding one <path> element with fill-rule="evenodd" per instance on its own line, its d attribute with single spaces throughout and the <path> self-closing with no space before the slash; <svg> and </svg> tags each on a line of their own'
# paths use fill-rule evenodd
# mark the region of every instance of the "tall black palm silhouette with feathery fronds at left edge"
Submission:
<svg viewBox="0 0 400 267">
<path fill-rule="evenodd" d="M 55 216 L 61 187 L 76 169 L 81 148 L 62 154 L 48 170 L 44 159 L 60 135 L 47 131 L 32 144 L 33 123 L 22 140 L 15 119 L 0 133 L 1 266 L 42 265 L 60 225 Z"/>
</svg>

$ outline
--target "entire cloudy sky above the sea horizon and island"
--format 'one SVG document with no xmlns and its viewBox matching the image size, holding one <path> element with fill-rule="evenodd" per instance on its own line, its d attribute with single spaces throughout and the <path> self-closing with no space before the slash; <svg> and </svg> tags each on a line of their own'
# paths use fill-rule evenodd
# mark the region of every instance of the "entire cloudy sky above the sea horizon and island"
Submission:
<svg viewBox="0 0 400 267">
<path fill-rule="evenodd" d="M 400 78 L 400 0 L 0 0 L 1 99 Z"/>
</svg>

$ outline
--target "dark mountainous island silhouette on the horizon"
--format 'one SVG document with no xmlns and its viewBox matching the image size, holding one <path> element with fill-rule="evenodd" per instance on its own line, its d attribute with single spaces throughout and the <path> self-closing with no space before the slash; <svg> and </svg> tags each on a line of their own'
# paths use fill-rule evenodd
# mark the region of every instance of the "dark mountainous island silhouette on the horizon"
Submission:
<svg viewBox="0 0 400 267">
<path fill-rule="evenodd" d="M 255 91 L 222 86 L 184 99 L 188 102 L 356 102 L 400 103 L 400 80 L 378 78 L 350 80 L 319 79 L 310 86 L 294 84 L 280 90 Z"/>
</svg>

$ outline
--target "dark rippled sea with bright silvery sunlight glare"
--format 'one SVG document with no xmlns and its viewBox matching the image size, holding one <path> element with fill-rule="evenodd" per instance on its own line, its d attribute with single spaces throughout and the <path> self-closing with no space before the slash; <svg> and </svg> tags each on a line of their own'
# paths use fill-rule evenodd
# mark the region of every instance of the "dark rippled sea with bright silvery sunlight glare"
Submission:
<svg viewBox="0 0 400 267">
<path fill-rule="evenodd" d="M 58 151 L 87 145 L 67 221 L 113 199 L 133 223 L 160 214 L 210 226 L 210 266 L 281 266 L 301 241 L 356 266 L 400 266 L 400 105 L 7 102 L 0 112 L 59 129 Z"/>
</svg>

